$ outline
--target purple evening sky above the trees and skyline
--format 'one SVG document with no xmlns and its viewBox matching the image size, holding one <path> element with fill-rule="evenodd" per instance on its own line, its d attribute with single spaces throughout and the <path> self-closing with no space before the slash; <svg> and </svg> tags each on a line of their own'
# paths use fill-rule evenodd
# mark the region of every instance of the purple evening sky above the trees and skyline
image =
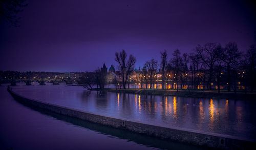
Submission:
<svg viewBox="0 0 256 150">
<path fill-rule="evenodd" d="M 28 0 L 20 27 L 0 25 L 0 70 L 84 72 L 117 66 L 115 52 L 133 54 L 136 68 L 167 50 L 198 44 L 253 44 L 249 3 L 214 1 Z"/>
</svg>

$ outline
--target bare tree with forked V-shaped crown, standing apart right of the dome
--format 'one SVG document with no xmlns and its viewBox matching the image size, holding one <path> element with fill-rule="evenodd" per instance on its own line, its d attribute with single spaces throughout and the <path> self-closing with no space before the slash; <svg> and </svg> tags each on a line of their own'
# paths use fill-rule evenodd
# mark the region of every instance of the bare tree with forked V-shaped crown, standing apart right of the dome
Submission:
<svg viewBox="0 0 256 150">
<path fill-rule="evenodd" d="M 122 50 L 119 54 L 116 52 L 115 55 L 115 60 L 119 63 L 121 69 L 123 89 L 126 89 L 125 85 L 127 78 L 135 65 L 136 58 L 133 55 L 130 55 L 129 59 L 126 61 L 127 54 L 124 50 Z"/>
</svg>

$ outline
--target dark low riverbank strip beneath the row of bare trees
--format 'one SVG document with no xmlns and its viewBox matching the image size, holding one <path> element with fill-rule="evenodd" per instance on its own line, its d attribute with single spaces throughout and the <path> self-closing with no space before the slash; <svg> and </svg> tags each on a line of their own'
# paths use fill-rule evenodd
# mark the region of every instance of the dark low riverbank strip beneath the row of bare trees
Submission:
<svg viewBox="0 0 256 150">
<path fill-rule="evenodd" d="M 94 91 L 106 91 L 106 92 L 117 92 L 117 93 L 130 93 L 130 94 L 149 94 L 149 95 L 165 95 L 165 96 L 180 96 L 180 97 L 191 97 L 191 98 L 212 98 L 212 99 L 240 99 L 240 100 L 256 100 L 256 93 L 237 93 L 232 92 L 221 92 L 217 91 L 184 91 L 179 90 L 162 90 L 162 89 L 93 89 Z"/>
</svg>

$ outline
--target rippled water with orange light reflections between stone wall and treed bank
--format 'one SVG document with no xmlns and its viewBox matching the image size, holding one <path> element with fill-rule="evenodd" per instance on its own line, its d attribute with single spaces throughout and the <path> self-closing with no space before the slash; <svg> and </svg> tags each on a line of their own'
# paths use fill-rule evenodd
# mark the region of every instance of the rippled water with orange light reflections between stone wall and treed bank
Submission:
<svg viewBox="0 0 256 150">
<path fill-rule="evenodd" d="M 66 85 L 13 89 L 29 98 L 100 115 L 256 139 L 256 101 L 100 93 Z"/>
</svg>

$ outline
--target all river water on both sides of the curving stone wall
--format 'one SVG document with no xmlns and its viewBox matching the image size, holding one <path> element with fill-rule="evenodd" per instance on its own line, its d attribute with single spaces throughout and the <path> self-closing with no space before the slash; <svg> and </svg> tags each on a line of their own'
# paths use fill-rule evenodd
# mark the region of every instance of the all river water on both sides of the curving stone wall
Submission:
<svg viewBox="0 0 256 150">
<path fill-rule="evenodd" d="M 1 100 L 2 109 L 0 119 L 6 119 L 4 123 L 4 125 L 6 125 L 6 128 L 14 128 L 14 131 L 11 131 L 10 134 L 10 131 L 8 132 L 2 127 L 2 132 L 8 133 L 5 136 L 8 137 L 11 135 L 8 141 L 13 142 L 14 139 L 20 140 L 20 138 L 23 138 L 23 136 L 25 136 L 25 139 L 28 138 L 29 140 L 34 141 L 34 138 L 32 139 L 32 137 L 27 136 L 27 134 L 29 133 L 30 136 L 36 135 L 36 137 L 38 137 L 39 135 L 39 138 L 41 134 L 43 135 L 42 137 L 45 138 L 47 136 L 61 137 L 61 140 L 59 141 L 71 141 L 71 145 L 89 144 L 91 146 L 101 146 L 101 144 L 91 144 L 91 139 L 89 139 L 87 135 L 89 134 L 90 136 L 93 135 L 93 137 L 95 138 L 103 138 L 102 140 L 105 141 L 103 142 L 103 145 L 105 144 L 104 146 L 113 146 L 113 144 L 111 144 L 111 141 L 122 141 L 121 145 L 125 145 L 124 148 L 127 149 L 143 149 L 154 147 L 166 149 L 183 149 L 187 146 L 179 143 L 161 143 L 164 141 L 157 139 L 151 139 L 154 142 L 145 143 L 145 141 L 150 141 L 149 139 L 147 139 L 149 137 L 143 137 L 145 138 L 145 140 L 139 140 L 138 142 L 136 138 L 133 138 L 134 136 L 123 137 L 123 134 L 116 135 L 113 134 L 113 132 L 104 133 L 100 131 L 101 134 L 99 134 L 97 128 L 100 128 L 100 126 L 96 127 L 95 131 L 95 129 L 92 129 L 90 127 L 88 129 L 88 125 L 85 125 L 85 127 L 80 127 L 83 125 L 79 125 L 79 123 L 72 123 L 72 121 L 69 120 L 67 121 L 65 119 L 59 119 L 58 117 L 49 117 L 49 114 L 46 115 L 45 113 L 41 113 L 41 111 L 38 110 L 36 110 L 37 112 L 35 112 L 34 110 L 28 109 L 26 106 L 14 101 L 10 94 L 6 91 L 6 88 L 7 87 L 1 87 L 1 97 L 4 100 Z M 254 119 L 254 116 L 256 114 L 255 101 L 151 96 L 111 92 L 101 93 L 97 91 L 87 91 L 83 87 L 66 86 L 65 84 L 31 86 L 18 85 L 16 87 L 13 87 L 13 90 L 18 94 L 28 98 L 33 98 L 36 100 L 49 102 L 61 106 L 67 106 L 69 108 L 92 112 L 99 115 L 167 127 L 175 126 L 181 128 L 188 128 L 189 130 L 195 131 L 219 133 L 243 138 L 256 139 L 256 121 Z M 8 112 L 11 112 L 12 116 L 10 116 Z M 23 123 L 28 126 L 24 128 Z M 22 132 L 19 131 L 19 127 L 17 127 L 17 125 L 22 126 Z M 33 129 L 33 132 L 26 132 L 26 130 L 31 129 L 30 127 Z M 109 130 L 106 129 L 106 131 Z M 56 135 L 52 135 L 52 132 Z M 105 134 L 111 136 L 106 136 Z M 85 143 L 82 143 L 80 141 L 81 143 L 77 144 L 72 139 L 75 135 L 78 136 L 77 138 L 79 139 L 88 139 L 89 141 Z M 125 135 L 129 135 L 129 133 Z M 1 139 L 5 139 L 3 134 L 1 134 L 1 136 Z M 114 138 L 112 138 L 112 136 L 114 136 Z M 136 135 L 135 137 L 138 136 L 141 135 Z M 39 140 L 44 141 L 46 139 Z M 56 142 L 58 143 L 59 141 Z M 97 140 L 95 140 L 94 142 L 96 141 Z M 99 143 L 101 143 L 100 141 L 98 140 Z M 41 142 L 38 141 L 37 143 L 41 144 Z M 117 146 L 114 148 L 120 148 L 118 147 L 119 144 L 114 145 Z"/>
</svg>

